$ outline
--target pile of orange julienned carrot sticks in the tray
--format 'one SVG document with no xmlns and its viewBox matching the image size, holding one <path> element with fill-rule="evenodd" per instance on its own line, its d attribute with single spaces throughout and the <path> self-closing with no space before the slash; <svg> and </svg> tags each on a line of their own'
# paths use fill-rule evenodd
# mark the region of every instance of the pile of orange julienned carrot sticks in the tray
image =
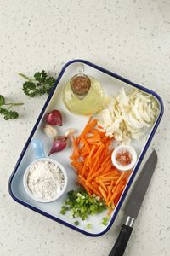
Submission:
<svg viewBox="0 0 170 256">
<path fill-rule="evenodd" d="M 73 137 L 71 166 L 77 170 L 77 182 L 89 195 L 99 195 L 108 207 L 115 207 L 122 195 L 130 172 L 118 172 L 111 163 L 113 138 L 96 128 L 97 120 L 90 118 L 82 134 Z"/>
</svg>

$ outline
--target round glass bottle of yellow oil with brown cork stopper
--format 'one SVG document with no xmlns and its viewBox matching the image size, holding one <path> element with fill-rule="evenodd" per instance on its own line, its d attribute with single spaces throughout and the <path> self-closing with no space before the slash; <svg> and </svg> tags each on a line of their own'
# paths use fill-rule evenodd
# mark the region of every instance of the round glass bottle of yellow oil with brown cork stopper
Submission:
<svg viewBox="0 0 170 256">
<path fill-rule="evenodd" d="M 63 102 L 71 112 L 92 115 L 103 108 L 104 90 L 97 79 L 78 73 L 73 76 L 63 90 Z"/>
</svg>

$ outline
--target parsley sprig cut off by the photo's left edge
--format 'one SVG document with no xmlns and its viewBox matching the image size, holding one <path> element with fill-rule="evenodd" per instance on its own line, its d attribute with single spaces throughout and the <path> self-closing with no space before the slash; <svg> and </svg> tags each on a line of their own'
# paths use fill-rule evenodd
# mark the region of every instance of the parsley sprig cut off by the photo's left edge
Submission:
<svg viewBox="0 0 170 256">
<path fill-rule="evenodd" d="M 5 120 L 17 119 L 19 117 L 19 114 L 16 111 L 12 111 L 10 109 L 13 108 L 14 106 L 20 106 L 20 105 L 23 105 L 23 103 L 16 103 L 16 102 L 7 103 L 5 100 L 5 97 L 3 95 L 0 95 L 0 114 L 3 114 L 3 118 Z"/>
</svg>

